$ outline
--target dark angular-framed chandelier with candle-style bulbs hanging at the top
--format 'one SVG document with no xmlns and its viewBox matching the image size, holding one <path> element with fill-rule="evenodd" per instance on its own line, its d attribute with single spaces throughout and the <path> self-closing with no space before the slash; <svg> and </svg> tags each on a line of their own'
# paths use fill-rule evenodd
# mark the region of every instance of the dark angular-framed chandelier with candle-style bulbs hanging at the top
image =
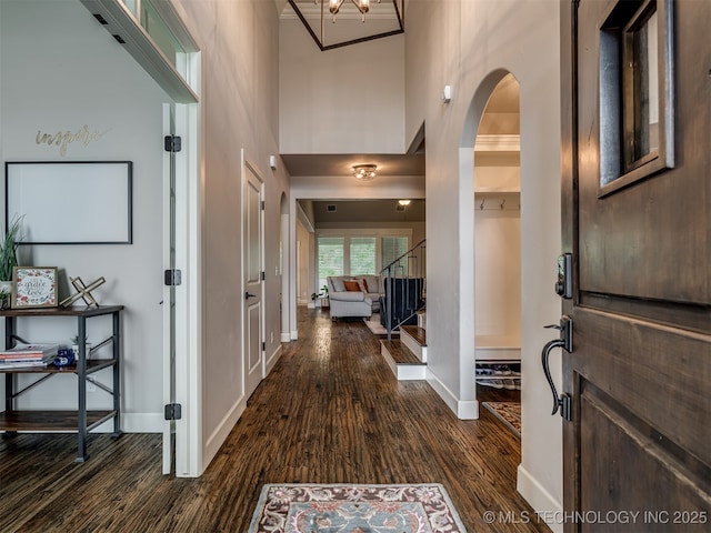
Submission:
<svg viewBox="0 0 711 533">
<path fill-rule="evenodd" d="M 288 2 L 321 51 L 404 32 L 404 0 Z"/>
</svg>

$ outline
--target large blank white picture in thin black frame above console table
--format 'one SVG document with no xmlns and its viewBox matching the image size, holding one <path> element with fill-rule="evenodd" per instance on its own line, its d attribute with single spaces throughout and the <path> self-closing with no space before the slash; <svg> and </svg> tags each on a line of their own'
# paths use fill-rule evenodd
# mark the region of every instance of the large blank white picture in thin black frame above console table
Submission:
<svg viewBox="0 0 711 533">
<path fill-rule="evenodd" d="M 20 244 L 130 244 L 131 161 L 6 163 L 6 228 Z"/>
</svg>

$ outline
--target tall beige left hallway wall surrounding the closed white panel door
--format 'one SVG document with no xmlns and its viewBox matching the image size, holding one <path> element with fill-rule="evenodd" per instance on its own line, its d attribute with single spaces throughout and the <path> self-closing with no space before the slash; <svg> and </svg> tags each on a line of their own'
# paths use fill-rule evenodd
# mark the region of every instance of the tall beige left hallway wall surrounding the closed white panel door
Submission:
<svg viewBox="0 0 711 533">
<path fill-rule="evenodd" d="M 274 2 L 262 0 L 174 3 L 201 51 L 204 466 L 247 402 L 242 349 L 242 149 L 264 180 L 267 356 L 272 358 L 281 346 L 280 205 L 282 193 L 289 197 L 289 184 L 279 159 L 277 170 L 269 168 L 269 155 L 279 154 L 279 20 Z M 291 201 L 289 210 L 293 228 Z"/>
</svg>

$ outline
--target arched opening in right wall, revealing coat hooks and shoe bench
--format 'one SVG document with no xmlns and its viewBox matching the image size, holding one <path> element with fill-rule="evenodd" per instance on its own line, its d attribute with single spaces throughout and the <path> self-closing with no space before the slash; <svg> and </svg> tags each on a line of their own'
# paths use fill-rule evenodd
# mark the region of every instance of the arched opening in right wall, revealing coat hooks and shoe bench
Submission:
<svg viewBox="0 0 711 533">
<path fill-rule="evenodd" d="M 521 402 L 521 158 L 519 82 L 491 92 L 474 143 L 477 398 L 519 431 Z"/>
</svg>

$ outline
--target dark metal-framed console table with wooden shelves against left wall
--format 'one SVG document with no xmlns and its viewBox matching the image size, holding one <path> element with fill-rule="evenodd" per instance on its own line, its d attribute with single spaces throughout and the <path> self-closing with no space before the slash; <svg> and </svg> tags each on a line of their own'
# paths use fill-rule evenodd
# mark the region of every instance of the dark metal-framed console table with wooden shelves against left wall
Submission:
<svg viewBox="0 0 711 533">
<path fill-rule="evenodd" d="M 113 419 L 112 434 L 113 436 L 119 436 L 121 434 L 120 320 L 123 305 L 0 310 L 0 316 L 4 316 L 6 349 L 12 348 L 18 340 L 26 342 L 17 334 L 17 319 L 73 316 L 77 319 L 77 335 L 80 340 L 78 359 L 74 364 L 69 366 L 58 368 L 50 363 L 47 366 L 0 369 L 0 373 L 6 374 L 6 410 L 0 413 L 0 431 L 6 432 L 6 434 L 14 434 L 19 431 L 30 433 L 40 431 L 77 432 L 78 451 L 76 462 L 78 463 L 83 463 L 88 459 L 87 435 L 91 430 Z M 113 321 L 112 334 L 93 346 L 91 351 L 96 351 L 106 344 L 112 344 L 112 359 L 88 359 L 86 345 L 87 319 L 108 314 L 112 316 Z M 113 368 L 113 386 L 109 388 L 96 381 L 92 383 L 113 396 L 113 409 L 87 411 L 87 376 L 107 368 Z M 77 374 L 78 378 L 78 409 L 76 411 L 54 411 L 50 409 L 23 411 L 14 409 L 18 396 L 53 375 L 67 373 Z M 16 374 L 37 374 L 41 376 L 29 385 L 17 390 Z"/>
</svg>

